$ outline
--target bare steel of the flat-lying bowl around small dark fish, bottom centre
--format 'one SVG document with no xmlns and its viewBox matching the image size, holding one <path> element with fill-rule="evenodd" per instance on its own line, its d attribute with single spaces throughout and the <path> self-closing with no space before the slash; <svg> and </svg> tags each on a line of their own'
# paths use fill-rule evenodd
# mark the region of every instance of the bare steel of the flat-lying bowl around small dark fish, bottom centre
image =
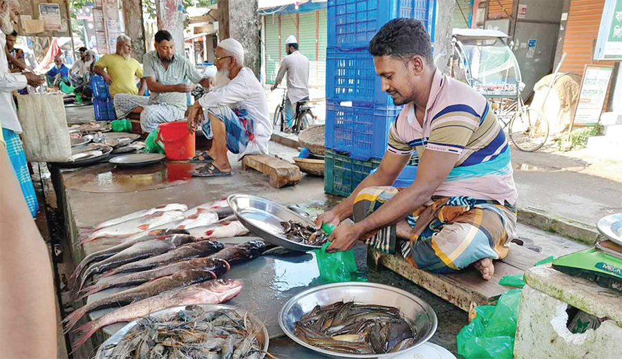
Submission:
<svg viewBox="0 0 622 359">
<path fill-rule="evenodd" d="M 327 305 L 340 300 L 354 300 L 360 304 L 379 304 L 399 308 L 404 320 L 411 324 L 416 333 L 415 343 L 411 347 L 395 353 L 348 354 L 313 347 L 294 334 L 294 323 L 305 313 L 312 311 L 317 304 Z M 402 289 L 376 283 L 343 282 L 315 287 L 296 295 L 285 303 L 279 316 L 279 324 L 281 324 L 283 332 L 294 342 L 324 356 L 331 358 L 390 358 L 406 353 L 432 338 L 436 331 L 437 319 L 436 313 L 429 304 L 411 293 L 402 291 Z"/>
</svg>

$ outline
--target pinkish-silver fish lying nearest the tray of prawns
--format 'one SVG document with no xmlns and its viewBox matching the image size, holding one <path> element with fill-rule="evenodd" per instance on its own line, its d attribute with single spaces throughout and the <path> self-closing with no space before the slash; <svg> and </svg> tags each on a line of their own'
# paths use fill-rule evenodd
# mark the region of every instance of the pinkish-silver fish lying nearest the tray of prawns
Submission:
<svg viewBox="0 0 622 359">
<path fill-rule="evenodd" d="M 226 302 L 238 295 L 240 291 L 242 291 L 242 282 L 239 280 L 209 280 L 133 302 L 77 328 L 76 331 L 82 333 L 82 335 L 73 343 L 73 349 L 79 348 L 97 330 L 106 325 L 117 322 L 129 322 L 130 320 L 147 316 L 154 311 L 178 305 Z"/>
</svg>

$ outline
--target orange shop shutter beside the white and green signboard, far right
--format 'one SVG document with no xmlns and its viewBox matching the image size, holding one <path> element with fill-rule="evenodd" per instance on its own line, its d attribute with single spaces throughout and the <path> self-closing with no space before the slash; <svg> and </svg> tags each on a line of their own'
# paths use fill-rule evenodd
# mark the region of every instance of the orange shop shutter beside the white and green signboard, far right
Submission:
<svg viewBox="0 0 622 359">
<path fill-rule="evenodd" d="M 566 59 L 561 72 L 583 75 L 585 64 L 613 66 L 614 61 L 594 61 L 594 42 L 599 36 L 605 0 L 572 0 L 566 21 L 564 48 Z M 562 53 L 563 53 L 562 52 Z"/>
</svg>

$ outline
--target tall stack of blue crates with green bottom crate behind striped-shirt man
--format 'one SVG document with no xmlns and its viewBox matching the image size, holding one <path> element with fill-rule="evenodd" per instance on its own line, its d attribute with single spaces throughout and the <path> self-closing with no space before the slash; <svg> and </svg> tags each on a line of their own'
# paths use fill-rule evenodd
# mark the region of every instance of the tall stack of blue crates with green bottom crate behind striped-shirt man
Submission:
<svg viewBox="0 0 622 359">
<path fill-rule="evenodd" d="M 326 193 L 349 195 L 356 188 L 360 180 L 344 182 L 348 168 L 369 173 L 377 167 L 386 151 L 388 128 L 402 110 L 381 89 L 369 41 L 397 17 L 422 21 L 433 39 L 435 11 L 435 0 L 328 0 Z M 338 168 L 346 163 L 354 167 Z"/>
</svg>

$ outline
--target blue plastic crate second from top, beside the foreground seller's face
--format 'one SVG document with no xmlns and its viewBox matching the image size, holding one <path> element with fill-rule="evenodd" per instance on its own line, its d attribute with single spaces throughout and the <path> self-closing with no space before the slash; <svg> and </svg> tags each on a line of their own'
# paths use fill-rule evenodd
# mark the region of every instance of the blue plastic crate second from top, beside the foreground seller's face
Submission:
<svg viewBox="0 0 622 359">
<path fill-rule="evenodd" d="M 382 91 L 373 56 L 367 50 L 328 48 L 326 99 L 352 101 L 357 106 L 393 106 L 393 99 Z"/>
</svg>

